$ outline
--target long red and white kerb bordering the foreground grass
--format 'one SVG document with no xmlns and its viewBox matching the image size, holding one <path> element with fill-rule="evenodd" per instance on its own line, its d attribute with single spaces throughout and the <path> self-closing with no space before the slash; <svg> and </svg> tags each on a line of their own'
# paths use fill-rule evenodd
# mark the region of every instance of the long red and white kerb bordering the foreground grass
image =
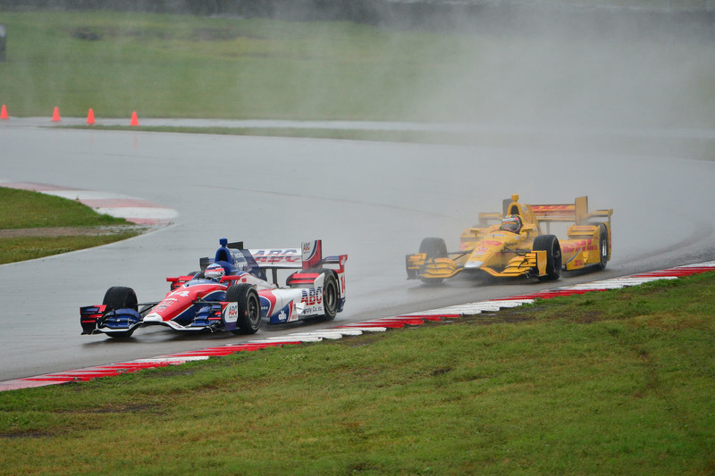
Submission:
<svg viewBox="0 0 715 476">
<path fill-rule="evenodd" d="M 138 372 L 143 369 L 180 365 L 181 363 L 206 360 L 209 357 L 230 355 L 236 352 L 256 351 L 265 347 L 295 346 L 305 342 L 320 342 L 324 339 L 337 339 L 347 336 L 358 336 L 364 332 L 384 332 L 388 329 L 399 329 L 408 325 L 420 325 L 428 321 L 442 321 L 456 319 L 467 315 L 497 312 L 508 307 L 517 307 L 526 303 L 533 303 L 535 299 L 548 299 L 557 296 L 570 296 L 607 289 L 627 288 L 638 286 L 654 280 L 677 280 L 682 276 L 690 276 L 707 271 L 715 271 L 715 261 L 708 263 L 678 266 L 668 270 L 644 272 L 623 278 L 594 281 L 586 284 L 576 284 L 563 288 L 539 291 L 524 296 L 512 296 L 501 299 L 491 299 L 466 305 L 451 305 L 420 313 L 400 314 L 391 317 L 373 319 L 364 322 L 355 322 L 329 329 L 295 332 L 281 337 L 269 337 L 253 340 L 243 344 L 229 344 L 220 347 L 206 347 L 199 350 L 190 350 L 173 355 L 159 355 L 149 359 L 139 359 L 124 363 L 98 365 L 69 372 L 56 372 L 26 379 L 6 380 L 0 382 L 0 391 L 19 388 L 42 387 L 66 382 L 79 382 L 101 377 L 111 377 L 122 373 Z"/>
</svg>

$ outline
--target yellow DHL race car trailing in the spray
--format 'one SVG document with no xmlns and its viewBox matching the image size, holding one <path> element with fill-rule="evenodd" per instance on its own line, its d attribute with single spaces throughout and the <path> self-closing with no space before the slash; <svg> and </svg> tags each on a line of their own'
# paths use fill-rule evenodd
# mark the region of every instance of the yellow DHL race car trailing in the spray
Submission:
<svg viewBox="0 0 715 476">
<path fill-rule="evenodd" d="M 459 251 L 448 252 L 442 238 L 423 239 L 419 253 L 407 255 L 408 280 L 436 284 L 462 271 L 558 280 L 561 269 L 606 267 L 613 209 L 589 213 L 586 196 L 558 205 L 525 205 L 518 200 L 518 195 L 504 200 L 501 213 L 479 213 L 479 224 L 462 232 Z M 551 235 L 551 226 L 558 227 L 557 223 L 567 227 L 567 239 Z"/>
</svg>

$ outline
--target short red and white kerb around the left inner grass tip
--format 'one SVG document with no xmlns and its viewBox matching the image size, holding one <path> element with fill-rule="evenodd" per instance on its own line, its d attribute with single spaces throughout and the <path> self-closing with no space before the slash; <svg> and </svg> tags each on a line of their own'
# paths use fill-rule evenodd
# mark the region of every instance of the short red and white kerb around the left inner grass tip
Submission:
<svg viewBox="0 0 715 476">
<path fill-rule="evenodd" d="M 97 213 L 123 218 L 139 225 L 167 225 L 172 219 L 179 216 L 179 213 L 172 208 L 111 192 L 58 187 L 33 182 L 0 181 L 0 187 L 18 188 L 78 200 L 82 205 L 93 208 Z"/>
</svg>

